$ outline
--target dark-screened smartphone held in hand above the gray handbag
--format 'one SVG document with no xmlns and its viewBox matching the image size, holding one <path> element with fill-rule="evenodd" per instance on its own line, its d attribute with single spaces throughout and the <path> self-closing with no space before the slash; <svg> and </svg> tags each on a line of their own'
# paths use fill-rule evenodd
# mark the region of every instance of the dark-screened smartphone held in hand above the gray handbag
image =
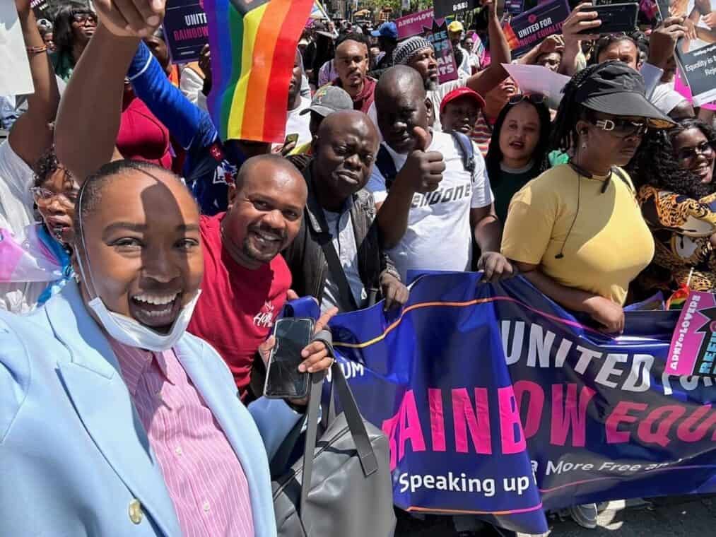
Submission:
<svg viewBox="0 0 716 537">
<path fill-rule="evenodd" d="M 286 317 L 274 324 L 276 343 L 266 367 L 263 395 L 270 399 L 303 399 L 309 395 L 310 374 L 299 372 L 301 351 L 313 341 L 314 319 Z"/>
</svg>

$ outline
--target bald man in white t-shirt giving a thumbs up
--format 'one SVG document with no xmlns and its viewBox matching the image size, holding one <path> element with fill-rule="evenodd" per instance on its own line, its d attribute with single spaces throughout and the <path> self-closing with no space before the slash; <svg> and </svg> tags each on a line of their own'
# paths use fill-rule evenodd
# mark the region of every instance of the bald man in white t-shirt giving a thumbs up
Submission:
<svg viewBox="0 0 716 537">
<path fill-rule="evenodd" d="M 411 269 L 470 270 L 473 237 L 485 279 L 511 276 L 511 264 L 499 253 L 501 226 L 485 161 L 470 151 L 470 171 L 459 139 L 429 129 L 431 104 L 420 74 L 405 66 L 388 69 L 377 84 L 375 104 L 395 178 L 379 169 L 378 158 L 367 188 L 378 208 L 384 246 L 403 281 Z"/>
</svg>

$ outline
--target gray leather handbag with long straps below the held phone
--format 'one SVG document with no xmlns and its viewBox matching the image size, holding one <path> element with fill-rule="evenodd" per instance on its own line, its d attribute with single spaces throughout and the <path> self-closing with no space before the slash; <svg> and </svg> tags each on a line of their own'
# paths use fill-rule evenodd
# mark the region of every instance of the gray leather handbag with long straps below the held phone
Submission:
<svg viewBox="0 0 716 537">
<path fill-rule="evenodd" d="M 317 339 L 332 352 L 329 338 Z M 311 375 L 304 456 L 272 483 L 279 537 L 391 537 L 395 513 L 387 437 L 363 420 L 341 367 L 334 363 L 331 372 L 344 410 L 330 416 L 331 400 L 324 410 L 327 428 L 316 442 L 324 374 Z"/>
</svg>

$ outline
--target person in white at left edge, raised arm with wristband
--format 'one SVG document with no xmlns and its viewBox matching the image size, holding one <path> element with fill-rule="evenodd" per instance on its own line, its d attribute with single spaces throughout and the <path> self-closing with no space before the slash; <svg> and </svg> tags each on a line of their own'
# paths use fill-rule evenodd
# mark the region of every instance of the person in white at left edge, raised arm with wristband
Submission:
<svg viewBox="0 0 716 537">
<path fill-rule="evenodd" d="M 23 240 L 26 227 L 35 220 L 31 166 L 52 144 L 48 124 L 57 114 L 59 91 L 29 2 L 18 2 L 17 6 L 25 46 L 29 51 L 42 51 L 28 52 L 34 93 L 27 96 L 27 112 L 14 122 L 8 139 L 0 144 L 0 230 Z M 47 282 L 0 283 L 0 309 L 26 313 L 37 304 L 46 286 Z"/>
</svg>

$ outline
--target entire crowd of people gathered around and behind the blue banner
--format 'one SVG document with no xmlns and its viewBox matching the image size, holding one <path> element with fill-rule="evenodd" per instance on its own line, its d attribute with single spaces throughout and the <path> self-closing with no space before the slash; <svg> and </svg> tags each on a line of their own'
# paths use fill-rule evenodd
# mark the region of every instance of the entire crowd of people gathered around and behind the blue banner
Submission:
<svg viewBox="0 0 716 537">
<path fill-rule="evenodd" d="M 263 377 L 299 296 L 318 331 L 400 308 L 417 271 L 520 274 L 619 334 L 626 304 L 716 287 L 713 112 L 674 90 L 684 16 L 602 35 L 579 4 L 513 59 L 487 0 L 484 27 L 448 26 L 442 83 L 394 21 L 309 21 L 271 143 L 220 139 L 217 56 L 170 61 L 162 0 L 52 23 L 15 4 L 34 93 L 5 96 L 0 145 L 0 533 L 275 535 L 269 460 L 306 400 Z M 571 79 L 523 92 L 511 62 Z M 301 356 L 333 363 L 320 341 Z M 596 526 L 595 505 L 571 515 Z"/>
</svg>

